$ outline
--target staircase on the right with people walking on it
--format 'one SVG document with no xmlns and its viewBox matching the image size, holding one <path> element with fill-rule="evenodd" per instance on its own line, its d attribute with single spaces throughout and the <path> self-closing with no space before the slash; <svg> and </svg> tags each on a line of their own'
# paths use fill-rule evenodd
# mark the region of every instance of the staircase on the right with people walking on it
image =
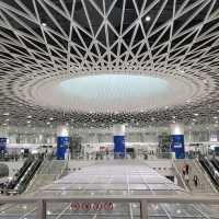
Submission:
<svg viewBox="0 0 219 219">
<path fill-rule="evenodd" d="M 177 168 L 177 171 L 182 175 L 182 169 L 187 163 L 189 165 L 189 183 L 187 185 L 187 188 L 192 193 L 217 193 L 217 189 L 210 182 L 210 178 L 208 175 L 204 172 L 201 165 L 197 160 L 175 160 L 175 166 Z M 194 175 L 197 175 L 199 178 L 198 186 L 196 187 L 193 178 Z M 183 176 L 181 177 L 183 178 Z"/>
</svg>

